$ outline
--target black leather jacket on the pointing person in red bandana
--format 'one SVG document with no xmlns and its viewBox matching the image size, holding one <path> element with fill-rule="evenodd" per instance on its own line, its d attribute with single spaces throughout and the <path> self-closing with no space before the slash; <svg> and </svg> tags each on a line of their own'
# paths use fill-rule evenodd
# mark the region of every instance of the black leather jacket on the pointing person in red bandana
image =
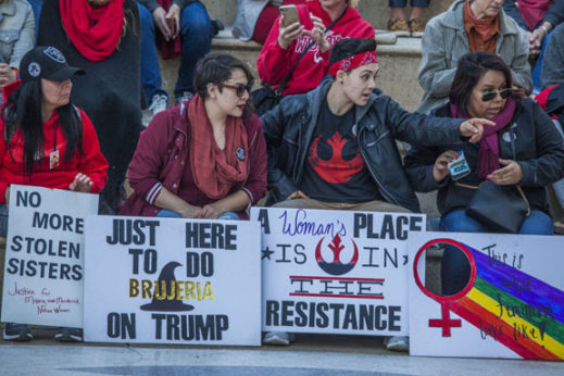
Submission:
<svg viewBox="0 0 564 376">
<path fill-rule="evenodd" d="M 261 117 L 268 147 L 267 204 L 284 201 L 300 187 L 322 101 L 330 85 L 330 80 L 324 80 L 305 95 L 285 97 Z M 456 142 L 461 140 L 462 120 L 409 113 L 381 92 L 373 93 L 355 111 L 359 148 L 381 196 L 419 212 L 396 139 L 422 146 Z"/>
</svg>

